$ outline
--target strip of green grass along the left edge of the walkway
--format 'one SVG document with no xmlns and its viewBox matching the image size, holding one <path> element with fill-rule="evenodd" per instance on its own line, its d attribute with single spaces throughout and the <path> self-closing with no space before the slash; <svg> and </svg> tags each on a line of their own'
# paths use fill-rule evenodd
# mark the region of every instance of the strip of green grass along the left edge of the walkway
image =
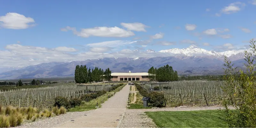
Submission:
<svg viewBox="0 0 256 128">
<path fill-rule="evenodd" d="M 119 92 L 126 84 L 124 84 L 123 86 L 120 86 L 118 88 L 116 88 L 115 90 L 113 91 L 110 91 L 110 92 L 107 92 L 106 94 L 96 98 L 96 99 L 93 99 L 89 102 L 85 102 L 85 101 L 82 101 L 82 104 L 80 106 L 76 106 L 74 108 L 70 108 L 68 109 L 69 112 L 80 112 L 80 111 L 89 111 L 89 110 L 92 110 L 92 109 L 96 109 L 96 105 L 98 103 L 98 106 L 101 107 L 101 103 L 104 103 L 105 101 L 108 100 L 108 96 L 111 97 L 111 95 L 114 95 L 114 92 Z"/>
</svg>

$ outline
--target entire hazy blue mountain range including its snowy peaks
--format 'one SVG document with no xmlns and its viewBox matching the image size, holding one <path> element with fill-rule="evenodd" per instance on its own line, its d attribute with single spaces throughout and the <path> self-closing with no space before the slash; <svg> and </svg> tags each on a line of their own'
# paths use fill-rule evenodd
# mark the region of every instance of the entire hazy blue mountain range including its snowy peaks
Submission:
<svg viewBox="0 0 256 128">
<path fill-rule="evenodd" d="M 248 51 L 248 50 L 247 50 Z M 133 50 L 133 52 L 141 52 Z M 94 68 L 110 68 L 112 72 L 147 72 L 149 68 L 161 67 L 169 64 L 180 75 L 220 75 L 223 74 L 224 56 L 235 63 L 235 66 L 243 68 L 244 50 L 232 50 L 225 52 L 207 51 L 195 45 L 188 48 L 173 48 L 168 50 L 147 50 L 147 53 L 170 53 L 161 57 L 137 57 L 137 58 L 100 58 L 94 60 L 68 62 L 50 62 L 31 65 L 27 67 L 0 68 L 0 79 L 40 78 L 40 77 L 64 77 L 74 76 L 76 65 L 86 65 Z"/>
</svg>

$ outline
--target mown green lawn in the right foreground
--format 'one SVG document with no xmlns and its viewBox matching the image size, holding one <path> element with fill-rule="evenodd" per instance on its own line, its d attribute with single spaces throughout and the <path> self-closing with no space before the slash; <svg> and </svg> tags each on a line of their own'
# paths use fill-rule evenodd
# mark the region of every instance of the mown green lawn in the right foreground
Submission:
<svg viewBox="0 0 256 128">
<path fill-rule="evenodd" d="M 145 112 L 157 127 L 228 127 L 220 110 Z"/>
</svg>

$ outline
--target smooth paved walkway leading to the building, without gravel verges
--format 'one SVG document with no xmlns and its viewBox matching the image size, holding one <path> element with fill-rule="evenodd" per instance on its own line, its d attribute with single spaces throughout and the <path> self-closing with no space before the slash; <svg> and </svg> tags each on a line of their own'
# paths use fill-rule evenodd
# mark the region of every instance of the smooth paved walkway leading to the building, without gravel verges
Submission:
<svg viewBox="0 0 256 128">
<path fill-rule="evenodd" d="M 124 111 L 127 106 L 130 85 L 126 84 L 124 88 L 105 101 L 101 108 L 97 108 L 86 116 L 81 116 L 74 121 L 68 121 L 57 127 L 117 127 L 121 122 Z"/>
</svg>

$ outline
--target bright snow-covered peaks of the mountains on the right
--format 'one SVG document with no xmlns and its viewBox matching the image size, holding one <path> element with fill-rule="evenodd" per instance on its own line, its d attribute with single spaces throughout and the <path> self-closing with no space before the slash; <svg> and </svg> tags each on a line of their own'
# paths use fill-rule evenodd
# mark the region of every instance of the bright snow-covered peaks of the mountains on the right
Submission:
<svg viewBox="0 0 256 128">
<path fill-rule="evenodd" d="M 211 57 L 221 58 L 221 59 L 223 59 L 224 56 L 227 56 L 228 58 L 232 58 L 232 60 L 238 60 L 244 57 L 244 51 L 245 50 L 215 52 L 215 51 L 208 51 L 208 50 L 199 48 L 196 45 L 190 45 L 188 48 L 183 48 L 183 49 L 173 48 L 173 49 L 161 50 L 159 52 L 182 54 L 185 56 L 199 56 L 199 57 L 211 56 Z"/>
</svg>

